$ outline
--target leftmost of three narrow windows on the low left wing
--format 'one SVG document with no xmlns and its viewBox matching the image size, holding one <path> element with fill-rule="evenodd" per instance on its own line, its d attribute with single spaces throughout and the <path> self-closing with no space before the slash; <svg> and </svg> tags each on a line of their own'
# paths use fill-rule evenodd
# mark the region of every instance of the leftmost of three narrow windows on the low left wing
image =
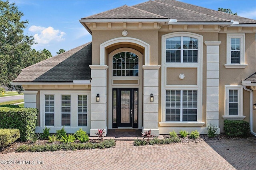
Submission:
<svg viewBox="0 0 256 170">
<path fill-rule="evenodd" d="M 45 125 L 54 126 L 54 95 L 45 95 Z"/>
</svg>

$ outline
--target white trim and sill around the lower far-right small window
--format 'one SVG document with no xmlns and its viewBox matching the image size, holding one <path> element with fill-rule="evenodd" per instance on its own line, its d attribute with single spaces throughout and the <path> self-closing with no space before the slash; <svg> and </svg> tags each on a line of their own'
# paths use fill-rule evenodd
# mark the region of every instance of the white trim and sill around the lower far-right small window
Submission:
<svg viewBox="0 0 256 170">
<path fill-rule="evenodd" d="M 229 115 L 229 90 L 238 90 L 238 115 Z M 243 86 L 225 85 L 225 105 L 223 119 L 244 119 L 243 115 Z"/>
</svg>

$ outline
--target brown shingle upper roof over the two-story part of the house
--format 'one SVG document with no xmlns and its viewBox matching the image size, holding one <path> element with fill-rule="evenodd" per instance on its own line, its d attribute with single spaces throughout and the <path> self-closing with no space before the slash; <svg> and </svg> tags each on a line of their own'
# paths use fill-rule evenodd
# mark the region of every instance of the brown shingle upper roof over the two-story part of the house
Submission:
<svg viewBox="0 0 256 170">
<path fill-rule="evenodd" d="M 88 19 L 163 19 L 170 18 L 177 21 L 238 21 L 239 23 L 256 23 L 256 20 L 210 10 L 176 0 L 150 0 L 132 7 L 122 6 L 82 18 Z"/>
</svg>

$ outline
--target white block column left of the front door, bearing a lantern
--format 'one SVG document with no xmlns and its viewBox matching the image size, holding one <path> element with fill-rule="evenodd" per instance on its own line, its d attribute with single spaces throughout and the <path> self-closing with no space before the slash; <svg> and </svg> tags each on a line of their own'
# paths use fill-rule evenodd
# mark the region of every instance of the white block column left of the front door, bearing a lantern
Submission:
<svg viewBox="0 0 256 170">
<path fill-rule="evenodd" d="M 90 65 L 91 68 L 91 129 L 90 135 L 96 136 L 98 129 L 107 134 L 107 69 L 106 65 Z M 96 96 L 99 94 L 99 102 Z"/>
</svg>

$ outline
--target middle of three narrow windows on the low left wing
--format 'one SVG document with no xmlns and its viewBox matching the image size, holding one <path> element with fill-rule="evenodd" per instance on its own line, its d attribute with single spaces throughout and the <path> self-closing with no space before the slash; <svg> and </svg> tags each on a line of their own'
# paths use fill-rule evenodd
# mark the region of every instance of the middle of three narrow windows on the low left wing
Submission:
<svg viewBox="0 0 256 170">
<path fill-rule="evenodd" d="M 70 126 L 70 95 L 61 95 L 61 125 Z"/>
</svg>

